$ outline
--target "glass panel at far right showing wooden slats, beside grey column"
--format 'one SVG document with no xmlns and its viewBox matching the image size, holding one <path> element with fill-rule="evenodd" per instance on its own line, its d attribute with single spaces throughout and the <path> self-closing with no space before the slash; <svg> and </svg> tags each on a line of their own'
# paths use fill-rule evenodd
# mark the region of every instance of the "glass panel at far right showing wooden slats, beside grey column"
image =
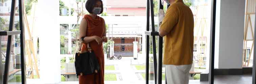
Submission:
<svg viewBox="0 0 256 84">
<path fill-rule="evenodd" d="M 255 0 L 246 0 L 246 13 L 244 25 L 244 38 L 243 41 L 243 67 L 253 66 L 253 37 L 255 27 Z"/>
</svg>

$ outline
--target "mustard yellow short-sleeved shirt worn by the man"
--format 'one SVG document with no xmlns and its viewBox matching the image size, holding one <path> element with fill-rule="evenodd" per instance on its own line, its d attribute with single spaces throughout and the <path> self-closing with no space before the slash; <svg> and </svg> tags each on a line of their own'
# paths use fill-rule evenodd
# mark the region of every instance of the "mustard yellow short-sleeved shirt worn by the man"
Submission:
<svg viewBox="0 0 256 84">
<path fill-rule="evenodd" d="M 193 62 L 194 17 L 182 0 L 168 7 L 159 28 L 164 37 L 164 65 L 190 65 Z"/>
</svg>

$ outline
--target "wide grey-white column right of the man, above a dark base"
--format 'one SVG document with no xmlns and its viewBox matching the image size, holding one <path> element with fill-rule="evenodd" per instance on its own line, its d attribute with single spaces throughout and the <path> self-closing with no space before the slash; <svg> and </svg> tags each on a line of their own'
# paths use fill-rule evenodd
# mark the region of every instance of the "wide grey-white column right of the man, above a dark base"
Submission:
<svg viewBox="0 0 256 84">
<path fill-rule="evenodd" d="M 241 69 L 245 0 L 217 0 L 215 68 Z"/>
</svg>

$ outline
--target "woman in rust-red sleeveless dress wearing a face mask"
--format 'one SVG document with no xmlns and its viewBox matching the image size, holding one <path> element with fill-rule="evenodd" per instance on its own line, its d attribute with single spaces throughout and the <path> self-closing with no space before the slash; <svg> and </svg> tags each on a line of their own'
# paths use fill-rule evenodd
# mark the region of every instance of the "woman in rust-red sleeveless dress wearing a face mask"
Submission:
<svg viewBox="0 0 256 84">
<path fill-rule="evenodd" d="M 95 75 L 79 76 L 79 84 L 104 84 L 102 43 L 107 42 L 106 25 L 104 19 L 98 16 L 103 12 L 103 3 L 101 0 L 87 0 L 85 8 L 90 14 L 84 15 L 80 24 L 80 38 L 83 38 L 81 51 L 88 50 L 87 43 L 89 43 L 99 61 L 100 71 Z"/>
</svg>

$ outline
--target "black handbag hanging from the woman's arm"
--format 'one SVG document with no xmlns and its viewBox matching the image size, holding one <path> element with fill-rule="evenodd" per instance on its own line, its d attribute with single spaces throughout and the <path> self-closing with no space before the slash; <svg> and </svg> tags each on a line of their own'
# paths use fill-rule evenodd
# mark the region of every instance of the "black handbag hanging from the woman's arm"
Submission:
<svg viewBox="0 0 256 84">
<path fill-rule="evenodd" d="M 88 51 L 81 52 L 82 41 L 80 40 L 79 42 L 80 47 L 79 51 L 76 53 L 74 62 L 76 75 L 83 76 L 98 73 L 98 71 L 100 71 L 100 65 L 93 50 L 89 47 L 89 43 L 87 43 Z"/>
</svg>

